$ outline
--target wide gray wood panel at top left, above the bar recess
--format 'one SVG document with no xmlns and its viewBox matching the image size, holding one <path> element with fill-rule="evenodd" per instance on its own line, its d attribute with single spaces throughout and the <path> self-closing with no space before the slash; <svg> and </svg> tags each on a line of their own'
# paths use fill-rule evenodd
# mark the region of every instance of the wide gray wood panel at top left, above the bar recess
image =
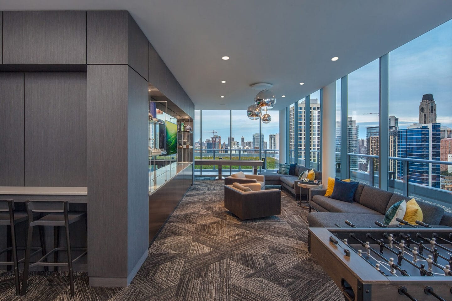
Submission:
<svg viewBox="0 0 452 301">
<path fill-rule="evenodd" d="M 85 64 L 85 11 L 4 11 L 3 64 Z"/>
</svg>

